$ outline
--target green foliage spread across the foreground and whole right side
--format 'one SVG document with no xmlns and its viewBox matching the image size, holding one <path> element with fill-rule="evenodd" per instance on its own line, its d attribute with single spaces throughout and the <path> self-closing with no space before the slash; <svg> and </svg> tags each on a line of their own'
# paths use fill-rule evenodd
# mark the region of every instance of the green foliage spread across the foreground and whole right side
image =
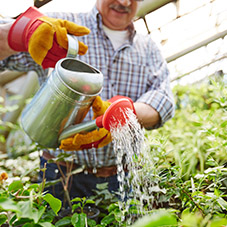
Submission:
<svg viewBox="0 0 227 227">
<path fill-rule="evenodd" d="M 1 154 L 4 158 L 0 160 L 0 174 L 6 171 L 9 179 L 0 179 L 0 225 L 226 226 L 226 84 L 211 81 L 176 86 L 174 96 L 175 117 L 162 128 L 145 132 L 149 161 L 137 171 L 139 196 L 122 206 L 117 195 L 107 190 L 107 184 L 100 184 L 91 198 L 74 198 L 70 215 L 61 216 L 61 202 L 43 191 L 45 180 L 42 184 L 31 182 L 38 163 L 33 168 L 29 166 L 24 173 L 22 169 L 19 171 L 19 166 L 25 164 L 13 165 L 22 160 L 27 165 L 30 161 L 34 163 L 37 155 L 32 158 L 32 154 L 37 151 L 23 155 L 23 159 Z M 66 183 L 67 179 L 67 186 Z M 101 211 L 98 219 L 88 218 L 87 206 Z"/>
</svg>

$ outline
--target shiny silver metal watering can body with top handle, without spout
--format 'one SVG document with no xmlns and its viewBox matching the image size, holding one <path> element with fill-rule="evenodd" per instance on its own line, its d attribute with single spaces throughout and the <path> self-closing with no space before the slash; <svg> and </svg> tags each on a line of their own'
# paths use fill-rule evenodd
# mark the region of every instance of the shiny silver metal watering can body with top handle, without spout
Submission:
<svg viewBox="0 0 227 227">
<path fill-rule="evenodd" d="M 68 35 L 66 58 L 56 63 L 47 81 L 25 107 L 21 125 L 28 136 L 44 147 L 57 148 L 59 136 L 83 121 L 103 87 L 103 74 L 75 59 L 79 45 Z"/>
</svg>

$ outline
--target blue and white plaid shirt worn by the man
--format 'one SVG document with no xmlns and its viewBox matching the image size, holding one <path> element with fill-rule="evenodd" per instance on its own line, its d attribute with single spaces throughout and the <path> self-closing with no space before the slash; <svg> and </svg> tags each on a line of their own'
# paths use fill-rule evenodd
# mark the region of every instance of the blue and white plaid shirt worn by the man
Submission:
<svg viewBox="0 0 227 227">
<path fill-rule="evenodd" d="M 84 25 L 91 30 L 87 36 L 78 37 L 88 45 L 88 52 L 78 58 L 99 69 L 104 75 L 104 85 L 100 96 L 103 100 L 115 95 L 130 97 L 134 102 L 142 102 L 156 109 L 162 126 L 174 114 L 174 101 L 170 90 L 169 71 L 156 44 L 150 36 L 139 35 L 133 25 L 129 26 L 129 40 L 114 50 L 110 39 L 102 29 L 102 18 L 96 7 L 89 13 L 49 13 L 50 17 L 62 18 Z M 37 66 L 29 54 L 20 53 L 0 61 L 0 69 L 19 71 L 35 70 L 41 82 L 46 79 L 45 72 Z M 92 118 L 89 112 L 85 121 Z M 62 150 L 50 150 L 57 155 Z M 75 162 L 88 167 L 115 165 L 113 145 L 99 149 L 73 152 Z"/>
</svg>

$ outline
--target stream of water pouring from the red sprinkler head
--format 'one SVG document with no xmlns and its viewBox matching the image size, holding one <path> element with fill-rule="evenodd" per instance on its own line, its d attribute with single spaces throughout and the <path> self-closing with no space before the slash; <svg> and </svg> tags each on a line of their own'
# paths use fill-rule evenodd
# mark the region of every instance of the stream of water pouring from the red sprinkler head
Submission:
<svg viewBox="0 0 227 227">
<path fill-rule="evenodd" d="M 129 200 L 139 200 L 136 205 L 137 213 L 142 216 L 144 214 L 143 203 L 146 200 L 146 189 L 144 190 L 144 182 L 141 178 L 140 170 L 143 165 L 149 163 L 149 155 L 146 146 L 144 129 L 141 128 L 135 114 L 132 110 L 125 112 L 126 124 L 111 127 L 111 135 L 113 137 L 114 151 L 117 157 L 118 180 L 120 200 L 119 208 L 125 213 L 128 212 L 131 204 Z M 128 171 L 124 171 L 127 167 Z M 126 176 L 127 175 L 127 176 Z M 147 199 L 147 203 L 149 200 Z M 137 214 L 137 215 L 138 215 Z M 128 224 L 131 224 L 131 219 L 128 217 Z M 125 216 L 122 216 L 124 221 Z"/>
</svg>

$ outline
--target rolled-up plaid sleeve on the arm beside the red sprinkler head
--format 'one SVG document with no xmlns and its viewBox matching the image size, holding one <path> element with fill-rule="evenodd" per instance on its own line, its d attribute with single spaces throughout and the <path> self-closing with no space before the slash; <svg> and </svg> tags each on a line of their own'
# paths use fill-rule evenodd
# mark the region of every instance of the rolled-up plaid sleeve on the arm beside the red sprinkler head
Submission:
<svg viewBox="0 0 227 227">
<path fill-rule="evenodd" d="M 149 55 L 150 77 L 148 91 L 140 96 L 137 102 L 142 102 L 153 107 L 160 115 L 161 121 L 149 129 L 161 127 L 167 120 L 174 116 L 175 104 L 170 87 L 170 74 L 161 51 L 152 41 L 151 54 Z"/>
</svg>

